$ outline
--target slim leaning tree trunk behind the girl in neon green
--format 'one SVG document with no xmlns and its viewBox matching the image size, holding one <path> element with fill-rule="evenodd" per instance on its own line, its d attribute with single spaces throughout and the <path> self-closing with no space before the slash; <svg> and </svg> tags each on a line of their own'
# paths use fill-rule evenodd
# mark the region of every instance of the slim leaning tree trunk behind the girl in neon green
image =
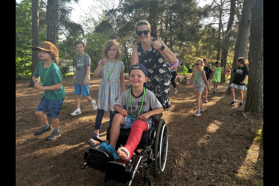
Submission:
<svg viewBox="0 0 279 186">
<path fill-rule="evenodd" d="M 221 56 L 221 67 L 224 67 L 226 70 L 226 63 L 228 57 L 228 50 L 230 48 L 230 37 L 231 33 L 229 32 L 232 29 L 233 20 L 235 17 L 235 0 L 230 1 L 230 16 L 227 24 L 226 32 L 224 33 L 223 42 L 222 42 L 222 56 Z M 226 82 L 226 73 L 221 74 L 220 84 Z"/>
</svg>

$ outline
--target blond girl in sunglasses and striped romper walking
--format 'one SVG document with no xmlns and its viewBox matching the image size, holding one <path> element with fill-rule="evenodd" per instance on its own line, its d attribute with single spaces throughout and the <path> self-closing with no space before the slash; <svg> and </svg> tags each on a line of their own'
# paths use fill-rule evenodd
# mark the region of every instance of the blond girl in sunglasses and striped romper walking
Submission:
<svg viewBox="0 0 279 186">
<path fill-rule="evenodd" d="M 198 58 L 195 61 L 194 65 L 195 65 L 195 70 L 193 71 L 192 76 L 187 83 L 187 86 L 190 85 L 190 82 L 193 79 L 192 85 L 195 87 L 196 99 L 197 99 L 197 111 L 194 114 L 194 116 L 200 116 L 201 112 L 204 111 L 203 102 L 201 101 L 201 94 L 203 94 L 205 84 L 208 87 L 208 92 L 211 92 L 211 90 L 205 76 L 205 71 L 201 69 L 201 67 L 203 66 L 203 59 Z"/>
</svg>

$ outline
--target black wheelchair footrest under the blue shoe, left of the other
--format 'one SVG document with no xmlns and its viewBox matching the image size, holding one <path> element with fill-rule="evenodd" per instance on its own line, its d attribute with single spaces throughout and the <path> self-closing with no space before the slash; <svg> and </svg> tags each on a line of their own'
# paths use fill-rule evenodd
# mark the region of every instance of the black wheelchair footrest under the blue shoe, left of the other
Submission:
<svg viewBox="0 0 279 186">
<path fill-rule="evenodd" d="M 104 151 L 91 147 L 90 149 L 85 150 L 84 160 L 86 160 L 86 165 L 88 167 L 104 171 L 105 164 L 113 160 L 113 157 L 109 157 Z"/>
</svg>

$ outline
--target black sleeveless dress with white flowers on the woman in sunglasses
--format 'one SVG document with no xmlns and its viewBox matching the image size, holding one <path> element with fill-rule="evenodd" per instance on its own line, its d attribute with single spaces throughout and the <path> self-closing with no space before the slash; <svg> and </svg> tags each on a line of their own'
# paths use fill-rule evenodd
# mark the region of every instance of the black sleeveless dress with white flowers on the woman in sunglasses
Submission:
<svg viewBox="0 0 279 186">
<path fill-rule="evenodd" d="M 153 37 L 153 41 L 156 38 Z M 163 108 L 169 108 L 169 83 L 171 78 L 168 62 L 154 49 L 152 44 L 149 50 L 142 49 L 142 44 L 137 43 L 139 62 L 147 69 L 147 89 L 151 90 L 162 104 Z"/>
</svg>

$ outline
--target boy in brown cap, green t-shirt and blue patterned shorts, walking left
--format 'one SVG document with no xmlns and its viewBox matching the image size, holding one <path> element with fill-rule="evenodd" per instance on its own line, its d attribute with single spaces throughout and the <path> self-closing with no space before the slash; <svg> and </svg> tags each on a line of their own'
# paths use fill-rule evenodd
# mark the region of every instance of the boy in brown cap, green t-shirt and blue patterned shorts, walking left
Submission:
<svg viewBox="0 0 279 186">
<path fill-rule="evenodd" d="M 49 117 L 54 129 L 46 140 L 54 140 L 61 136 L 58 116 L 66 95 L 61 83 L 61 71 L 56 65 L 57 49 L 51 42 L 44 41 L 39 47 L 32 47 L 32 50 L 38 51 L 40 60 L 43 60 L 37 65 L 33 74 L 33 85 L 37 90 L 44 90 L 44 96 L 35 111 L 42 128 L 36 131 L 34 135 L 40 136 L 52 130 L 52 127 L 47 122 L 47 117 Z M 38 82 L 38 77 L 40 77 L 41 84 Z M 47 116 L 44 114 L 45 112 L 47 112 Z"/>
</svg>

